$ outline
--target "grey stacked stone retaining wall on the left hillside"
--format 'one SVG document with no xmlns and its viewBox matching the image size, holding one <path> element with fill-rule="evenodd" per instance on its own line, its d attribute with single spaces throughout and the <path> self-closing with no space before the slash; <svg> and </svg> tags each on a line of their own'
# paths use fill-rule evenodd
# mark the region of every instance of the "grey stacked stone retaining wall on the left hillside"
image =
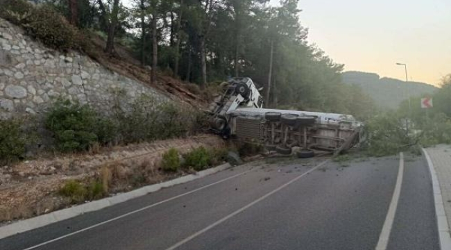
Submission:
<svg viewBox="0 0 451 250">
<path fill-rule="evenodd" d="M 89 103 L 99 111 L 111 108 L 114 90 L 124 90 L 131 103 L 141 94 L 169 101 L 158 90 L 111 72 L 80 53 L 61 53 L 28 38 L 0 19 L 0 117 L 41 113 L 57 97 Z"/>
</svg>

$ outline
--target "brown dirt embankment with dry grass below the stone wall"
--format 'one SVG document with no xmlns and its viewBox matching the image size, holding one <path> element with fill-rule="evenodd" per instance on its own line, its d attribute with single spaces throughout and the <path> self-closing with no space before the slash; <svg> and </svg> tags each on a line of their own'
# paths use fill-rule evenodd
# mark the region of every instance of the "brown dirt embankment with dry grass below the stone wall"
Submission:
<svg viewBox="0 0 451 250">
<path fill-rule="evenodd" d="M 220 149 L 226 147 L 226 142 L 215 135 L 199 135 L 102 149 L 96 154 L 26 160 L 17 165 L 0 167 L 0 223 L 69 206 L 70 200 L 58 195 L 62 185 L 68 180 L 83 181 L 99 177 L 105 167 L 112 173 L 110 193 L 187 174 L 162 172 L 159 167 L 162 154 L 172 147 L 186 153 L 201 146 Z"/>
</svg>

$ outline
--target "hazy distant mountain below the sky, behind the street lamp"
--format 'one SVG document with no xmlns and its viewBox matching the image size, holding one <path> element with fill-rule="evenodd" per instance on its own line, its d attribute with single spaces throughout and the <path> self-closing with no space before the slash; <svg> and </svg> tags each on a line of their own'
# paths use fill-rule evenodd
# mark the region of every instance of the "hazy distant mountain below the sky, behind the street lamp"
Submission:
<svg viewBox="0 0 451 250">
<path fill-rule="evenodd" d="M 378 74 L 365 72 L 344 72 L 343 82 L 358 85 L 370 95 L 380 108 L 398 108 L 402 100 L 409 96 L 429 94 L 437 88 L 427 83 L 400 81 L 393 78 L 380 78 Z"/>
</svg>

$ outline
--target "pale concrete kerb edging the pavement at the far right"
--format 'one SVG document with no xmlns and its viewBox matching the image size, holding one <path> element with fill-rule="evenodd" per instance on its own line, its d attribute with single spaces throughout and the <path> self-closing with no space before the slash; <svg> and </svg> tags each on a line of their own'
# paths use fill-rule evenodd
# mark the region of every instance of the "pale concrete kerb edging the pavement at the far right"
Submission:
<svg viewBox="0 0 451 250">
<path fill-rule="evenodd" d="M 437 220 L 437 231 L 439 232 L 440 249 L 441 250 L 451 250 L 451 236 L 450 227 L 448 225 L 448 219 L 445 214 L 445 208 L 443 206 L 443 197 L 441 195 L 441 189 L 439 184 L 439 178 L 434 169 L 434 164 L 427 153 L 426 149 L 421 148 L 423 155 L 426 158 L 427 167 L 429 168 L 429 173 L 432 179 L 432 192 L 434 195 L 434 207 L 435 215 Z"/>
</svg>

